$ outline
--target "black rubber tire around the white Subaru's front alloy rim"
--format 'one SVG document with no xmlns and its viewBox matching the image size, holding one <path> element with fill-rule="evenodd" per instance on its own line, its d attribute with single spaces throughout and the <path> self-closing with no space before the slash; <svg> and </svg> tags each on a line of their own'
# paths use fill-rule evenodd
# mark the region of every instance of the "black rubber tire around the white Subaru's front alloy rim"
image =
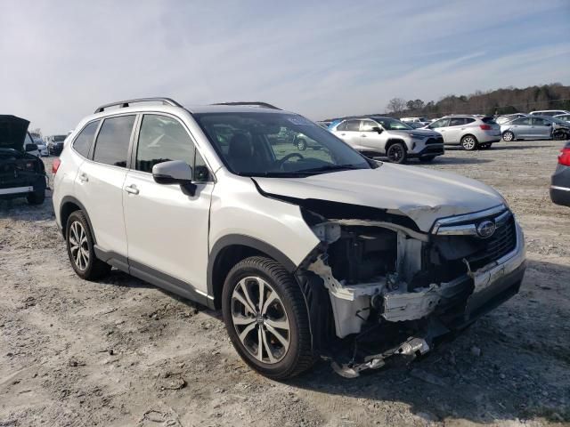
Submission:
<svg viewBox="0 0 570 427">
<path fill-rule="evenodd" d="M 266 347 L 261 351 L 262 358 L 257 359 L 250 352 L 251 349 L 248 350 L 246 345 L 240 340 L 237 330 L 238 327 L 241 327 L 240 324 L 238 323 L 238 326 L 234 325 L 234 310 L 236 305 L 240 305 L 240 302 L 233 299 L 234 290 L 236 292 L 239 291 L 240 281 L 246 278 L 254 280 L 261 278 L 265 281 L 265 284 L 271 286 L 272 290 L 278 295 L 280 307 L 286 313 L 286 318 L 288 318 L 289 332 L 287 333 L 287 338 L 289 339 L 289 347 L 281 355 L 281 359 L 277 361 L 264 362 L 264 352 L 268 356 Z M 252 289 L 255 290 L 255 286 Z M 254 299 L 252 298 L 251 301 L 254 301 Z M 257 301 L 259 301 L 259 298 L 257 298 Z M 253 305 L 257 311 L 258 306 L 255 302 Z M 222 292 L 222 312 L 224 324 L 232 340 L 233 347 L 240 354 L 241 359 L 260 374 L 274 380 L 284 380 L 299 375 L 313 366 L 316 354 L 313 350 L 305 298 L 295 278 L 279 262 L 262 256 L 252 256 L 234 265 L 225 278 L 224 290 Z M 267 334 L 265 323 L 259 324 L 259 318 L 261 317 L 261 321 L 263 321 L 265 317 L 260 313 L 263 313 L 263 310 L 258 310 L 255 315 L 248 315 L 248 318 L 257 319 L 253 322 L 256 324 L 254 329 L 247 333 L 253 334 L 254 339 L 252 341 L 254 341 L 254 344 L 256 336 L 260 336 L 256 334 L 262 334 L 260 332 L 262 328 L 265 331 L 265 337 L 274 337 L 274 335 Z M 245 329 L 242 329 L 240 334 L 244 332 Z"/>
</svg>

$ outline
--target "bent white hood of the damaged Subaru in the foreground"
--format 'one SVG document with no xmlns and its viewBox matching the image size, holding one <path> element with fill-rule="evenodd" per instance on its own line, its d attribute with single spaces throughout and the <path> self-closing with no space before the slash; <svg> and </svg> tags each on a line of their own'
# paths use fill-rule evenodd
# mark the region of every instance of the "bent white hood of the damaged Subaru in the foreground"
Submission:
<svg viewBox="0 0 570 427">
<path fill-rule="evenodd" d="M 364 205 L 403 214 L 426 232 L 439 218 L 504 203 L 501 195 L 483 182 L 454 173 L 388 163 L 377 169 L 254 180 L 270 194 Z"/>
</svg>

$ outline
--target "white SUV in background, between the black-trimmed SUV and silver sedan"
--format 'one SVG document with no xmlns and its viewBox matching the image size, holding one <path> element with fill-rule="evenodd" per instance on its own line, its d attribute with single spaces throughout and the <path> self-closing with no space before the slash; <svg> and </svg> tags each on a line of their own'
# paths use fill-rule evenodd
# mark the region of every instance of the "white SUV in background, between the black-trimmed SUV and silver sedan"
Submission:
<svg viewBox="0 0 570 427">
<path fill-rule="evenodd" d="M 493 142 L 501 141 L 501 128 L 493 117 L 445 116 L 427 125 L 441 133 L 445 145 L 460 145 L 463 149 L 490 149 Z"/>
</svg>

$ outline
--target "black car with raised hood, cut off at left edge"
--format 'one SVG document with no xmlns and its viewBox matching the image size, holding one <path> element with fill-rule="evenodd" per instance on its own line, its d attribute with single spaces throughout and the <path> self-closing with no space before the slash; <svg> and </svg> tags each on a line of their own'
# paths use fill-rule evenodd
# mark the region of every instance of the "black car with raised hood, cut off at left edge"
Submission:
<svg viewBox="0 0 570 427">
<path fill-rule="evenodd" d="M 28 120 L 0 116 L 0 198 L 26 197 L 30 205 L 45 199 L 44 162 L 31 153 L 37 145 L 28 133 Z"/>
</svg>

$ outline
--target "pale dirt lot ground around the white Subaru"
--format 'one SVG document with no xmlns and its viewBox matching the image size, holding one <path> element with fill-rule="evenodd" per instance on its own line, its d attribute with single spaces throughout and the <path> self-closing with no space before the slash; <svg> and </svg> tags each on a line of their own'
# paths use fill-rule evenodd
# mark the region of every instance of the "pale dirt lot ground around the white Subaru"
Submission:
<svg viewBox="0 0 570 427">
<path fill-rule="evenodd" d="M 570 208 L 548 196 L 560 146 L 450 149 L 428 166 L 508 199 L 525 282 L 455 342 L 355 380 L 325 362 L 289 383 L 256 375 L 218 312 L 115 270 L 77 278 L 51 199 L 0 202 L 0 426 L 570 425 Z"/>
</svg>

